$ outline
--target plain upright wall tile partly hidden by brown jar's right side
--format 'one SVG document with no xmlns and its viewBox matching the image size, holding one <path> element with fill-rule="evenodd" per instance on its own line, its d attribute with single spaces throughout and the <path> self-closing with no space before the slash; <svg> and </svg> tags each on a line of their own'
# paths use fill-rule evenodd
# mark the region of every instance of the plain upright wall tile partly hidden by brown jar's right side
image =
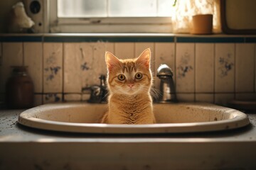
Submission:
<svg viewBox="0 0 256 170">
<path fill-rule="evenodd" d="M 24 65 L 33 80 L 35 93 L 43 92 L 43 44 L 41 42 L 24 42 Z"/>
</svg>

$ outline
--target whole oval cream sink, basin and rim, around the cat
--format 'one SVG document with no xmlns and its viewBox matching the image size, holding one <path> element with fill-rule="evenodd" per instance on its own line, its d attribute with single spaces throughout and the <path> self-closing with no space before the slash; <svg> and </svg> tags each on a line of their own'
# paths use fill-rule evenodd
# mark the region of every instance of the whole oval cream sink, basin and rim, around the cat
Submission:
<svg viewBox="0 0 256 170">
<path fill-rule="evenodd" d="M 250 124 L 245 113 L 210 103 L 154 104 L 156 124 L 99 123 L 107 104 L 53 103 L 23 111 L 18 123 L 43 130 L 89 133 L 181 133 L 241 128 Z"/>
</svg>

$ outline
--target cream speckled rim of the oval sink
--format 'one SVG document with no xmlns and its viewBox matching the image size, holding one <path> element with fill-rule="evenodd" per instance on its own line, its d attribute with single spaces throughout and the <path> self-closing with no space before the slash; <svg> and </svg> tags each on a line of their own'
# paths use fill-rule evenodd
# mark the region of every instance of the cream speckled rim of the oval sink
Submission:
<svg viewBox="0 0 256 170">
<path fill-rule="evenodd" d="M 123 125 L 123 124 L 101 124 L 101 123 L 68 123 L 58 122 L 54 120 L 44 120 L 41 118 L 35 118 L 37 109 L 50 109 L 55 106 L 55 109 L 65 107 L 78 107 L 85 105 L 92 105 L 91 103 L 50 103 L 30 108 L 23 111 L 18 115 L 18 123 L 28 126 L 30 128 L 37 128 L 43 130 L 53 130 L 59 132 L 78 132 L 78 133 L 184 133 L 184 132 L 210 132 L 219 130 L 231 130 L 235 128 L 242 128 L 250 124 L 250 120 L 245 113 L 237 111 L 233 108 L 227 108 L 218 106 L 212 103 L 178 103 L 189 106 L 213 106 L 218 109 L 234 111 L 236 114 L 234 118 L 227 120 L 217 120 L 210 122 L 197 122 L 197 123 L 156 123 L 146 125 Z M 159 103 L 155 103 L 156 105 Z M 102 105 L 102 104 L 93 104 Z M 166 105 L 166 104 L 164 104 Z M 202 128 L 203 127 L 203 128 Z"/>
</svg>

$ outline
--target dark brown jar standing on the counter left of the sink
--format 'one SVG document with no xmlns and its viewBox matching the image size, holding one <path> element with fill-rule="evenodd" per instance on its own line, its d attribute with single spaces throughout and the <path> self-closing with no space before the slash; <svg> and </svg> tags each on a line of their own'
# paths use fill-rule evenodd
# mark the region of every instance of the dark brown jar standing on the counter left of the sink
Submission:
<svg viewBox="0 0 256 170">
<path fill-rule="evenodd" d="M 13 66 L 11 77 L 6 82 L 6 105 L 9 108 L 33 107 L 33 81 L 26 68 Z"/>
</svg>

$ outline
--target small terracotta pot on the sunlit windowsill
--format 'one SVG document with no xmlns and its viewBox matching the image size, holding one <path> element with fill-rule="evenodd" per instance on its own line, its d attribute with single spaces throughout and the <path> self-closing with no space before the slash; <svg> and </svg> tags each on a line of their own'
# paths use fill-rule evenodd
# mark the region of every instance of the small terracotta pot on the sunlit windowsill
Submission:
<svg viewBox="0 0 256 170">
<path fill-rule="evenodd" d="M 192 17 L 192 34 L 212 34 L 213 33 L 213 15 L 201 14 Z"/>
</svg>

